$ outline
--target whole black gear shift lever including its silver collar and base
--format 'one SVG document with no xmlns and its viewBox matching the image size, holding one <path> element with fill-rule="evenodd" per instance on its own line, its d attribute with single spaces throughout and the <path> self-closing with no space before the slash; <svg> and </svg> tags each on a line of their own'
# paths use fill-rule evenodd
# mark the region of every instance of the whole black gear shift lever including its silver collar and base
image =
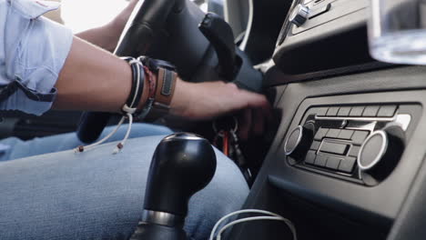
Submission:
<svg viewBox="0 0 426 240">
<path fill-rule="evenodd" d="M 131 240 L 184 240 L 189 198 L 216 171 L 216 155 L 204 138 L 191 134 L 165 137 L 154 153 L 142 221 Z"/>
</svg>

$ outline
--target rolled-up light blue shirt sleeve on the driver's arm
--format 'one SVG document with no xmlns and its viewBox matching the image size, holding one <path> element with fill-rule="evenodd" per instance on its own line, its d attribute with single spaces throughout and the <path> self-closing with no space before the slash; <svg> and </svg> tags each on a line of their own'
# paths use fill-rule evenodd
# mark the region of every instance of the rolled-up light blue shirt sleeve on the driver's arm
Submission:
<svg viewBox="0 0 426 240">
<path fill-rule="evenodd" d="M 58 6 L 0 0 L 0 110 L 42 115 L 55 101 L 55 84 L 73 35 L 41 15 Z"/>
</svg>

